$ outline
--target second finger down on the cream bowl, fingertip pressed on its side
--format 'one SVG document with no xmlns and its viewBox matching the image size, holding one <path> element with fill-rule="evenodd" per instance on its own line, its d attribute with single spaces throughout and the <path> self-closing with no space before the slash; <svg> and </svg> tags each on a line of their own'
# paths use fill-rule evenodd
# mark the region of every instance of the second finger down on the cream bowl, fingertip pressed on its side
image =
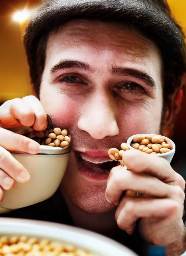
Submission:
<svg viewBox="0 0 186 256">
<path fill-rule="evenodd" d="M 0 169 L 20 183 L 25 183 L 30 179 L 27 169 L 2 147 L 0 147 Z"/>
</svg>

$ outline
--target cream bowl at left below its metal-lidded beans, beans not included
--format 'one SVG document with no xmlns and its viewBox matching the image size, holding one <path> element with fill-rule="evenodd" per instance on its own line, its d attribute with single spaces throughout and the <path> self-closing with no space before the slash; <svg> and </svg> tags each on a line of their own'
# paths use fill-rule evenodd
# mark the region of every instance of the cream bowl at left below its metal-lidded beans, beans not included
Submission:
<svg viewBox="0 0 186 256">
<path fill-rule="evenodd" d="M 12 153 L 30 173 L 27 183 L 16 182 L 13 188 L 5 191 L 0 203 L 0 213 L 6 209 L 18 209 L 47 200 L 59 187 L 64 176 L 70 148 L 40 146 L 37 155 Z"/>
</svg>

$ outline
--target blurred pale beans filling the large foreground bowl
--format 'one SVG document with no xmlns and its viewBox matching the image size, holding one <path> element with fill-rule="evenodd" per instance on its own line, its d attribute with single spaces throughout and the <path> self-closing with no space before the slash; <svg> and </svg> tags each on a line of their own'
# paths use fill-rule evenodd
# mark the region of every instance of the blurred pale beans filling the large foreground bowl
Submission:
<svg viewBox="0 0 186 256">
<path fill-rule="evenodd" d="M 1 243 L 0 255 L 3 256 L 98 256 L 74 245 L 48 239 L 31 237 L 23 241 L 17 236 L 1 238 L 4 243 Z"/>
</svg>

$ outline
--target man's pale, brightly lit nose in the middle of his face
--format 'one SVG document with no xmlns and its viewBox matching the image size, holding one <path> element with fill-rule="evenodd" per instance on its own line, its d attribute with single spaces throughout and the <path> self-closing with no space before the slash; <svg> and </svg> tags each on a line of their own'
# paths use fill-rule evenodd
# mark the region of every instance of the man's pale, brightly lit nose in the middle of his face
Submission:
<svg viewBox="0 0 186 256">
<path fill-rule="evenodd" d="M 86 131 L 94 139 L 115 136 L 119 128 L 115 116 L 116 106 L 104 95 L 94 97 L 87 103 L 78 120 L 78 128 Z"/>
</svg>

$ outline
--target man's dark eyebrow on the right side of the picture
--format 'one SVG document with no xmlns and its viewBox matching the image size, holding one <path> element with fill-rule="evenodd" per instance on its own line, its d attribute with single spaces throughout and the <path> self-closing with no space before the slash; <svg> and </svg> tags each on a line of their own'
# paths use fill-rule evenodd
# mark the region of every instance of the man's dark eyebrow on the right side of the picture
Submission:
<svg viewBox="0 0 186 256">
<path fill-rule="evenodd" d="M 122 68 L 122 67 L 112 67 L 112 73 L 114 75 L 120 75 L 120 76 L 133 76 L 136 77 L 137 79 L 145 81 L 148 85 L 151 87 L 155 88 L 156 83 L 154 79 L 148 75 L 144 71 L 140 71 L 138 69 L 133 69 L 133 68 Z"/>
</svg>

